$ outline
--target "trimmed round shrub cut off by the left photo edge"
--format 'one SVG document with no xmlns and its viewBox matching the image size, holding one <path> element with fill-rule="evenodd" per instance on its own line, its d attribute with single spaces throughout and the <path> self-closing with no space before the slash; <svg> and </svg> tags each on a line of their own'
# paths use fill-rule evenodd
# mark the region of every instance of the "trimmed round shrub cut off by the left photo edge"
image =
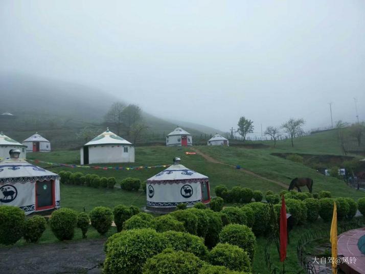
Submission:
<svg viewBox="0 0 365 274">
<path fill-rule="evenodd" d="M 18 207 L 2 205 L 0 207 L 0 243 L 14 244 L 24 234 L 26 215 Z"/>
</svg>

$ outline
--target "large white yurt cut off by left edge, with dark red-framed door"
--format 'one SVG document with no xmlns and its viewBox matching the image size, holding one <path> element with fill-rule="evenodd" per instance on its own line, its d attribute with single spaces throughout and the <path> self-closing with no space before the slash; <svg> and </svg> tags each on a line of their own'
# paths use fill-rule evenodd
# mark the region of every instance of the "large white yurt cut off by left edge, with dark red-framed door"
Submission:
<svg viewBox="0 0 365 274">
<path fill-rule="evenodd" d="M 0 206 L 14 205 L 25 214 L 60 207 L 59 176 L 19 158 L 12 149 L 10 158 L 0 162 Z"/>
</svg>

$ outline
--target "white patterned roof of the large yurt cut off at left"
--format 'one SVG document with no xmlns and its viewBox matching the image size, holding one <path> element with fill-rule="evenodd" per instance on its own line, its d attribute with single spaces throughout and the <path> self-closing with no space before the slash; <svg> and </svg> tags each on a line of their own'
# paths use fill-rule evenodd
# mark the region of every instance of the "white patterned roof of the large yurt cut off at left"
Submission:
<svg viewBox="0 0 365 274">
<path fill-rule="evenodd" d="M 0 184 L 28 181 L 54 180 L 56 173 L 32 165 L 19 158 L 7 158 L 0 162 Z"/>
</svg>

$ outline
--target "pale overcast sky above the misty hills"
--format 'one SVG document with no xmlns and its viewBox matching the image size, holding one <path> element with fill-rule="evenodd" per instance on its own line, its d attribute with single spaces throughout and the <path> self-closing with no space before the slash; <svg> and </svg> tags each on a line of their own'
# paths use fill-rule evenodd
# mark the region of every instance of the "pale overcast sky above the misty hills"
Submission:
<svg viewBox="0 0 365 274">
<path fill-rule="evenodd" d="M 255 131 L 365 120 L 365 1 L 0 2 L 0 73 L 86 84 L 161 118 Z"/>
</svg>

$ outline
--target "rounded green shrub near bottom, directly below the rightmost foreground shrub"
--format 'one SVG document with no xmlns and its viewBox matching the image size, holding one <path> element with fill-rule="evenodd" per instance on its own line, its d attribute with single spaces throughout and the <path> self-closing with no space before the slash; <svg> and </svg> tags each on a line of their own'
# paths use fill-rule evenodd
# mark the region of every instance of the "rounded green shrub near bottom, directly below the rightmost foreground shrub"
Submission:
<svg viewBox="0 0 365 274">
<path fill-rule="evenodd" d="M 231 270 L 251 271 L 251 262 L 247 253 L 237 245 L 219 243 L 209 253 L 209 262 L 225 266 Z"/>
</svg>

